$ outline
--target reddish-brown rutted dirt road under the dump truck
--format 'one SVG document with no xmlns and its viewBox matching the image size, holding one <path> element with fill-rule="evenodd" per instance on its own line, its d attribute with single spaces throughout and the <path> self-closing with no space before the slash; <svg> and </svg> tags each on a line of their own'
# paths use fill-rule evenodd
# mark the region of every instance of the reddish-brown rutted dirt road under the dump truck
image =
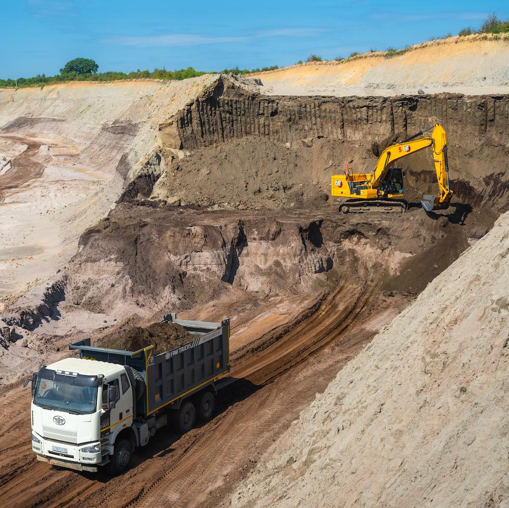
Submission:
<svg viewBox="0 0 509 508">
<path fill-rule="evenodd" d="M 182 437 L 162 429 L 122 477 L 99 479 L 37 462 L 29 442 L 29 393 L 15 388 L 0 406 L 6 422 L 0 436 L 3 506 L 217 504 L 315 393 L 405 305 L 390 299 L 382 309 L 378 297 L 370 300 L 371 289 L 340 286 L 294 322 L 253 337 L 232 356 L 218 415 Z"/>
</svg>

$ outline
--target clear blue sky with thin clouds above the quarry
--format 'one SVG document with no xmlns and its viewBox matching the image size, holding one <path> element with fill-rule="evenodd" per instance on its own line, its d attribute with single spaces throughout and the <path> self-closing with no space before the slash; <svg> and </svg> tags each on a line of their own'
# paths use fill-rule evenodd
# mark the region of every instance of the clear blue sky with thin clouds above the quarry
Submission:
<svg viewBox="0 0 509 508">
<path fill-rule="evenodd" d="M 509 18 L 509 2 L 2 0 L 0 77 L 52 75 L 76 57 L 103 72 L 292 65 L 455 35 L 491 12 Z"/>
</svg>

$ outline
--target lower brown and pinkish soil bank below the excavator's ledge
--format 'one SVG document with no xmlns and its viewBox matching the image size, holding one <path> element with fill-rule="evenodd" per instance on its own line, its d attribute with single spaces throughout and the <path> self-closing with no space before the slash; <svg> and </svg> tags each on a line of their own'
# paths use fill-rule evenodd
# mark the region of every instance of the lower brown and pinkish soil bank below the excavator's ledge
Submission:
<svg viewBox="0 0 509 508">
<path fill-rule="evenodd" d="M 123 203 L 82 236 L 65 271 L 68 304 L 149 319 L 154 311 L 180 312 L 225 294 L 320 292 L 330 287 L 329 272 L 357 283 L 392 276 L 405 258 L 405 276 L 418 270 L 420 285 L 404 291 L 415 294 L 456 259 L 479 223 L 486 229 L 492 223 L 471 213 L 462 225 L 459 204 L 435 219 L 419 209 L 365 216 L 322 205 L 269 218 L 263 210 L 148 204 Z"/>
</svg>

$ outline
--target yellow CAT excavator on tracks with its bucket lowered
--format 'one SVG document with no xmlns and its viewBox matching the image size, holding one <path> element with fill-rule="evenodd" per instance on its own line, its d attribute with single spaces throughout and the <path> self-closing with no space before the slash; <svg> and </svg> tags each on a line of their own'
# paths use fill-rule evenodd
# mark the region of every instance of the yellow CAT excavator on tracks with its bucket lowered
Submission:
<svg viewBox="0 0 509 508">
<path fill-rule="evenodd" d="M 431 135 L 423 135 L 432 129 Z M 421 138 L 415 139 L 421 135 Z M 348 201 L 340 206 L 340 212 L 363 212 L 372 207 L 379 209 L 381 207 L 384 211 L 406 211 L 408 202 L 404 199 L 403 172 L 393 167 L 393 164 L 428 147 L 431 147 L 432 151 L 439 193 L 436 196 L 423 195 L 422 208 L 427 212 L 448 208 L 453 191 L 449 188 L 445 131 L 440 124 L 435 124 L 386 148 L 380 154 L 373 173 L 350 173 L 347 164 L 345 175 L 332 175 L 330 182 L 332 195 L 348 198 Z"/>
</svg>

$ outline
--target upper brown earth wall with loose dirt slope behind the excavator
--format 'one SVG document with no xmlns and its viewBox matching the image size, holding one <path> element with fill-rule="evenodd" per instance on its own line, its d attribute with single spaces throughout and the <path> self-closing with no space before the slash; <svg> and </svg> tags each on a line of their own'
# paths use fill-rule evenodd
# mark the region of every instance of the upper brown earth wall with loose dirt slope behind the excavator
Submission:
<svg viewBox="0 0 509 508">
<path fill-rule="evenodd" d="M 295 206 L 330 193 L 330 176 L 372 172 L 384 148 L 434 123 L 447 133 L 451 188 L 472 207 L 509 207 L 509 96 L 268 97 L 220 78 L 161 124 L 168 203 Z M 177 149 L 191 150 L 184 158 Z M 436 193 L 431 152 L 401 159 L 410 196 Z M 414 191 L 413 189 L 416 189 Z M 412 197 L 411 197 L 412 199 Z"/>
</svg>

